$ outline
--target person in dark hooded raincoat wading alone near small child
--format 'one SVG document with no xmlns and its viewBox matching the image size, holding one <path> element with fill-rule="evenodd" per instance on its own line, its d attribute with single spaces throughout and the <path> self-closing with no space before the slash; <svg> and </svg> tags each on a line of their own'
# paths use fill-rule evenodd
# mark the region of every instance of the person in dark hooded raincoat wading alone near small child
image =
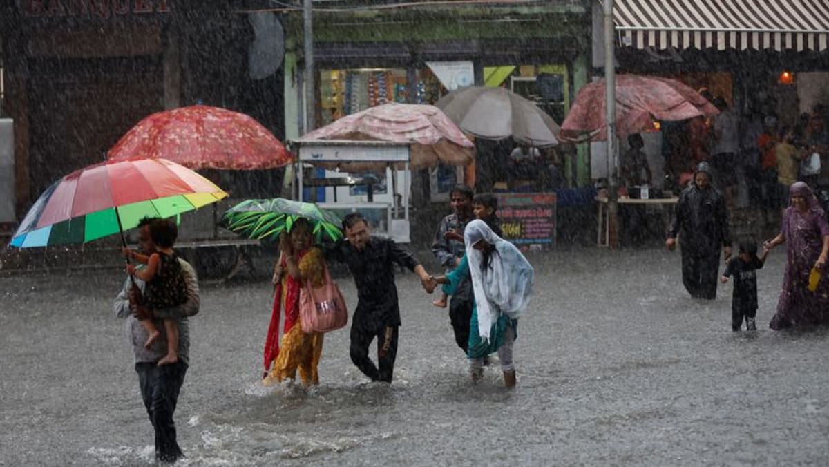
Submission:
<svg viewBox="0 0 829 467">
<path fill-rule="evenodd" d="M 676 246 L 676 236 L 681 241 L 682 284 L 691 297 L 715 299 L 720 248 L 728 260 L 731 236 L 725 200 L 711 184 L 708 163 L 697 166 L 694 181 L 679 196 L 665 241 L 669 250 Z"/>
</svg>

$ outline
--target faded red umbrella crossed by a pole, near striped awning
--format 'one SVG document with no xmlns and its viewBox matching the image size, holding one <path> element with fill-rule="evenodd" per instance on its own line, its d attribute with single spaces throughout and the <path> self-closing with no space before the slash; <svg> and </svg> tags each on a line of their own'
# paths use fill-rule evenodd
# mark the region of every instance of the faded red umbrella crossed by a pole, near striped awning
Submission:
<svg viewBox="0 0 829 467">
<path fill-rule="evenodd" d="M 563 139 L 607 139 L 604 80 L 585 85 L 575 96 L 564 123 Z M 657 76 L 616 76 L 616 134 L 625 138 L 653 128 L 654 120 L 684 120 L 719 110 L 677 80 Z"/>
</svg>

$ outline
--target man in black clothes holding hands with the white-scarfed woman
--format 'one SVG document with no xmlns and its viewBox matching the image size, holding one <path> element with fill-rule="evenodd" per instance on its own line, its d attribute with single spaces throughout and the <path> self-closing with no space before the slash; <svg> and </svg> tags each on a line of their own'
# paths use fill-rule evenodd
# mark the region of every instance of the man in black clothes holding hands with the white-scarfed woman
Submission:
<svg viewBox="0 0 829 467">
<path fill-rule="evenodd" d="M 345 263 L 354 275 L 357 308 L 351 319 L 351 362 L 371 381 L 391 382 L 400 328 L 394 264 L 414 271 L 429 294 L 436 284 L 409 251 L 390 239 L 371 236 L 361 214 L 347 215 L 342 226 L 347 240 L 328 250 L 327 256 Z M 377 366 L 368 356 L 374 338 L 377 338 Z"/>
</svg>

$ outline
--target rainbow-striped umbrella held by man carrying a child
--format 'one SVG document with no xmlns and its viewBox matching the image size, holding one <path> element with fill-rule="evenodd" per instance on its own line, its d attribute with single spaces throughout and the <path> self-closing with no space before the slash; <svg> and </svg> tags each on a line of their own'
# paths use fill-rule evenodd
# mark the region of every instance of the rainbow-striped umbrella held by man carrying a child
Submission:
<svg viewBox="0 0 829 467">
<path fill-rule="evenodd" d="M 41 194 L 10 246 L 80 244 L 170 217 L 227 197 L 189 168 L 161 158 L 107 161 L 82 168 Z"/>
</svg>

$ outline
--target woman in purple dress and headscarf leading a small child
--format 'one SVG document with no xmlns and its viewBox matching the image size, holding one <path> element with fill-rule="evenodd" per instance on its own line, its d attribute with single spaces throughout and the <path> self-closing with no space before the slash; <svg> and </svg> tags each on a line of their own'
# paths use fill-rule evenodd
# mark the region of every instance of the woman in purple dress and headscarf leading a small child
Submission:
<svg viewBox="0 0 829 467">
<path fill-rule="evenodd" d="M 765 241 L 773 248 L 786 244 L 786 272 L 780 292 L 777 314 L 768 323 L 774 330 L 808 328 L 829 323 L 829 277 L 826 262 L 829 254 L 829 222 L 810 188 L 795 182 L 789 188 L 791 206 L 783 212 L 783 226 L 778 236 Z M 817 289 L 807 289 L 812 268 L 822 272 Z"/>
</svg>

